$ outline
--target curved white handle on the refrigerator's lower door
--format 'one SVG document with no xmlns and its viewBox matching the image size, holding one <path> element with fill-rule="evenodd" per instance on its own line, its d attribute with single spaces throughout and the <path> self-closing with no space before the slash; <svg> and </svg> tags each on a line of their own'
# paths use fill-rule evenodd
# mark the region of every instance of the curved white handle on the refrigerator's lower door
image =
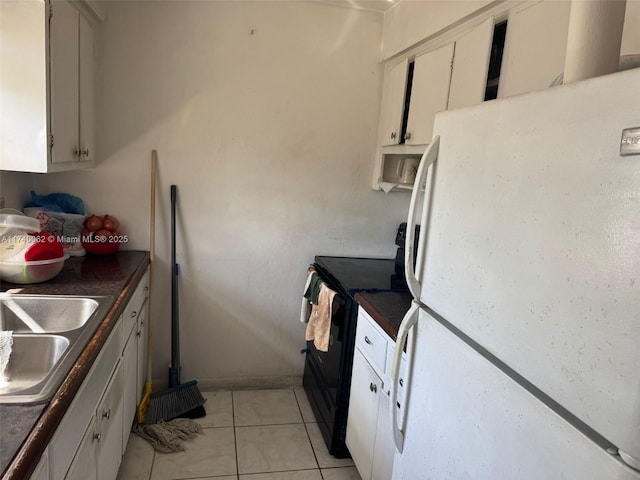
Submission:
<svg viewBox="0 0 640 480">
<path fill-rule="evenodd" d="M 391 429 L 393 430 L 393 441 L 396 444 L 398 452 L 402 453 L 404 448 L 404 424 L 406 422 L 406 410 L 400 420 L 401 424 L 398 424 L 398 379 L 400 377 L 400 361 L 402 359 L 402 350 L 404 348 L 405 341 L 409 337 L 413 327 L 418 323 L 420 312 L 420 305 L 414 300 L 411 302 L 409 311 L 405 314 L 398 329 L 398 336 L 396 339 L 396 347 L 393 352 L 393 363 L 391 364 L 391 392 L 389 398 L 389 406 L 391 409 Z M 405 378 L 408 380 L 406 386 L 407 392 L 411 387 L 411 370 L 412 370 L 412 345 L 413 341 L 410 338 L 407 342 L 407 371 L 405 372 Z M 407 394 L 408 397 L 408 394 Z"/>
</svg>

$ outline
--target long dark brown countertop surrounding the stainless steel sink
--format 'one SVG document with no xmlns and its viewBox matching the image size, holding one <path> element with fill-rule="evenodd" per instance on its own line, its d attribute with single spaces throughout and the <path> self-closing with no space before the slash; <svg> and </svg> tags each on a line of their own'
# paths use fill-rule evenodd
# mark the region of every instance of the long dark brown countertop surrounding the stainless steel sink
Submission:
<svg viewBox="0 0 640 480">
<path fill-rule="evenodd" d="M 3 480 L 28 478 L 149 264 L 149 254 L 69 258 L 53 279 L 32 285 L 0 282 L 0 292 L 113 297 L 113 304 L 57 393 L 39 404 L 0 404 L 0 471 Z"/>
</svg>

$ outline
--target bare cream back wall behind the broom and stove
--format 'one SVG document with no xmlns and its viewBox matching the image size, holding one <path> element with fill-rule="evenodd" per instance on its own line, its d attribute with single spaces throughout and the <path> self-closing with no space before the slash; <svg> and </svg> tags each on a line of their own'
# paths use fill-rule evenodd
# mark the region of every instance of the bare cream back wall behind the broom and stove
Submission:
<svg viewBox="0 0 640 480">
<path fill-rule="evenodd" d="M 148 248 L 159 153 L 154 378 L 169 361 L 169 185 L 179 188 L 183 378 L 299 381 L 316 254 L 392 258 L 404 194 L 370 190 L 382 15 L 315 2 L 109 2 L 97 168 L 37 178 Z M 293 378 L 291 378 L 293 377 Z"/>
</svg>

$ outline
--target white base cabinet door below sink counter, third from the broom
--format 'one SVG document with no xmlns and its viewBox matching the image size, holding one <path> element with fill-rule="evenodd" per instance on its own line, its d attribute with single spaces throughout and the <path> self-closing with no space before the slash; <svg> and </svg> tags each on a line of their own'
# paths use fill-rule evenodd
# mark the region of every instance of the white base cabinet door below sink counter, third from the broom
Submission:
<svg viewBox="0 0 640 480">
<path fill-rule="evenodd" d="M 96 409 L 98 480 L 113 480 L 122 460 L 122 362 L 118 363 Z"/>
</svg>

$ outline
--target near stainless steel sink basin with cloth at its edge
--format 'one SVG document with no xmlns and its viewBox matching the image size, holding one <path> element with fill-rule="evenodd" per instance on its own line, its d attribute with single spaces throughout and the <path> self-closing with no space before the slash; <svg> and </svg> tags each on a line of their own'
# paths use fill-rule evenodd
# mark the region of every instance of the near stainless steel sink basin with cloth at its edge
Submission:
<svg viewBox="0 0 640 480">
<path fill-rule="evenodd" d="M 69 339 L 60 335 L 14 335 L 5 371 L 9 381 L 0 381 L 0 395 L 24 392 L 38 386 L 47 379 L 69 344 Z"/>
</svg>

